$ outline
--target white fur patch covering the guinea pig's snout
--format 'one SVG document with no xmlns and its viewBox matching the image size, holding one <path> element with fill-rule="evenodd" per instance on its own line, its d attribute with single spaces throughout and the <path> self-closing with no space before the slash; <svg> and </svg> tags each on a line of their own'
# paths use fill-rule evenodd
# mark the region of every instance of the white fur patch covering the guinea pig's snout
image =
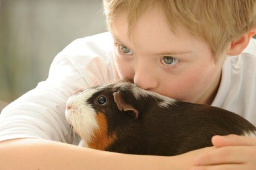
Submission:
<svg viewBox="0 0 256 170">
<path fill-rule="evenodd" d="M 67 101 L 65 110 L 68 123 L 87 142 L 91 142 L 93 130 L 99 127 L 96 121 L 96 111 L 89 103 L 86 103 L 96 91 L 95 89 L 89 89 L 71 96 Z"/>
</svg>

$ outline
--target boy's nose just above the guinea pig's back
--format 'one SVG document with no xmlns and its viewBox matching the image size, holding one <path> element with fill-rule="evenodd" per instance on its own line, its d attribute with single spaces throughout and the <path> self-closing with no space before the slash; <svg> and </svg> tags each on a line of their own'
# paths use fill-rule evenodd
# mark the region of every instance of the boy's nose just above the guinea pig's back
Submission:
<svg viewBox="0 0 256 170">
<path fill-rule="evenodd" d="M 156 72 L 154 68 L 144 65 L 135 69 L 133 81 L 134 83 L 144 90 L 154 90 L 158 86 Z"/>
</svg>

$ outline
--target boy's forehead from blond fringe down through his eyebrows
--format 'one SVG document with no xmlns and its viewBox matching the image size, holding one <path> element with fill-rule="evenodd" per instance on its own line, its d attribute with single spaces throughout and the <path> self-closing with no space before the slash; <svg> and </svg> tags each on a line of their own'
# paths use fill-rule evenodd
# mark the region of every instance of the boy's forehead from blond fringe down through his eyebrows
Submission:
<svg viewBox="0 0 256 170">
<path fill-rule="evenodd" d="M 187 55 L 196 56 L 201 50 L 209 50 L 202 39 L 191 35 L 185 27 L 177 25 L 173 32 L 159 9 L 146 11 L 129 31 L 126 14 L 119 15 L 113 22 L 112 36 L 115 43 L 125 45 L 138 56 Z M 131 34 L 129 36 L 129 34 Z"/>
</svg>

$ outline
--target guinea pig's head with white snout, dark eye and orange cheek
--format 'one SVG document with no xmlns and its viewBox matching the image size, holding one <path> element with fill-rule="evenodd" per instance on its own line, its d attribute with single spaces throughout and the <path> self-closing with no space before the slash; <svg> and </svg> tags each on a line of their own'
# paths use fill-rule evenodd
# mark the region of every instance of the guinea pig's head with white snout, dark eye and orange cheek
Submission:
<svg viewBox="0 0 256 170">
<path fill-rule="evenodd" d="M 118 128 L 137 121 L 145 95 L 146 90 L 127 81 L 85 89 L 68 99 L 65 117 L 90 148 L 105 150 L 117 139 Z"/>
</svg>

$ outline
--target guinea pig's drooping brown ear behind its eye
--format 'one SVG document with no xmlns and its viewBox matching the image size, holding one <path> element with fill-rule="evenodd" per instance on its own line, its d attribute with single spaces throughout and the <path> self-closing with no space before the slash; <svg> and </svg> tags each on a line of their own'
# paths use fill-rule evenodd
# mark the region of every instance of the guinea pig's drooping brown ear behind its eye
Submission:
<svg viewBox="0 0 256 170">
<path fill-rule="evenodd" d="M 133 106 L 129 105 L 122 99 L 121 92 L 114 92 L 114 101 L 117 103 L 117 107 L 119 110 L 127 111 L 127 113 L 133 116 L 135 119 L 139 117 L 139 111 L 135 109 Z"/>
</svg>

